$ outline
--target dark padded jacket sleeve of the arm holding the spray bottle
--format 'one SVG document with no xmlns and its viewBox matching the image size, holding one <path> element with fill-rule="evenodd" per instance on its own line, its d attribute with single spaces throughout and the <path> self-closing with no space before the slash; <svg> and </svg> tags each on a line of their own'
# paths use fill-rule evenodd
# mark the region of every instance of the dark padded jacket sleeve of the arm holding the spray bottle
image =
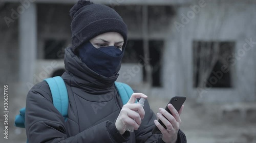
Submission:
<svg viewBox="0 0 256 143">
<path fill-rule="evenodd" d="M 50 94 L 49 85 L 43 81 L 36 84 L 27 95 L 25 127 L 30 143 L 123 142 L 129 138 L 122 135 L 113 136 L 115 126 L 110 121 L 104 121 L 68 137 L 65 121 L 54 107 Z"/>
</svg>

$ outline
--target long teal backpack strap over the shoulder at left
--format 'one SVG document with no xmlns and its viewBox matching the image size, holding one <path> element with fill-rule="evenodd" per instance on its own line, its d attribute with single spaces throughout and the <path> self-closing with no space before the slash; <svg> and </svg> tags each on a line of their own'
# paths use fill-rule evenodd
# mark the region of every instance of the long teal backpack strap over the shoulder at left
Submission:
<svg viewBox="0 0 256 143">
<path fill-rule="evenodd" d="M 47 78 L 45 81 L 50 87 L 53 105 L 61 113 L 65 121 L 67 121 L 69 97 L 64 80 L 60 76 L 55 76 Z"/>
</svg>

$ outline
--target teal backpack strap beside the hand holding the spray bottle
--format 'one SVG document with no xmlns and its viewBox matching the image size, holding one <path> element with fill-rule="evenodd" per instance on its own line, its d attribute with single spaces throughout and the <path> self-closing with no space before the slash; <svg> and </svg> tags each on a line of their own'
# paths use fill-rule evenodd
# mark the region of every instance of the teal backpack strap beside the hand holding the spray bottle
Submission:
<svg viewBox="0 0 256 143">
<path fill-rule="evenodd" d="M 122 99 L 123 105 L 126 104 L 134 93 L 133 89 L 129 85 L 122 82 L 115 81 L 115 85 L 117 92 Z M 135 101 L 135 103 L 137 103 L 137 100 Z"/>
</svg>

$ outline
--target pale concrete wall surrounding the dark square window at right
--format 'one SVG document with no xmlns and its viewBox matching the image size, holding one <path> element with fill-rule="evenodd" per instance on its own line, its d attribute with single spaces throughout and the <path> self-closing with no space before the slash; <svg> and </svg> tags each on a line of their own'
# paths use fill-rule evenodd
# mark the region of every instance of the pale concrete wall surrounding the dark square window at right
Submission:
<svg viewBox="0 0 256 143">
<path fill-rule="evenodd" d="M 198 1 L 190 5 L 199 6 Z M 188 22 L 183 21 L 182 27 L 171 24 L 163 63 L 166 65 L 163 75 L 166 92 L 172 96 L 193 97 L 199 102 L 255 101 L 255 44 L 240 54 L 233 66 L 234 88 L 207 89 L 201 96 L 193 88 L 192 57 L 193 40 L 236 41 L 235 53 L 243 48 L 245 39 L 256 41 L 255 8 L 252 1 L 205 1 L 200 12 L 194 16 L 191 14 Z M 182 14 L 187 15 L 189 11 L 192 11 L 189 5 L 177 8 L 174 21 L 182 23 Z"/>
</svg>

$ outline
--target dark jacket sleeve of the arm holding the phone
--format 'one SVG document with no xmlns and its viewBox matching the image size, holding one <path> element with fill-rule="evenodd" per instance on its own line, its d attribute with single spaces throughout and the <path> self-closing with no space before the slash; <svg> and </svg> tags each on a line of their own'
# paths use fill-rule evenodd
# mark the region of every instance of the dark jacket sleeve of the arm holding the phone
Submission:
<svg viewBox="0 0 256 143">
<path fill-rule="evenodd" d="M 146 100 L 144 103 L 145 116 L 142 120 L 142 123 L 138 130 L 135 131 L 136 134 L 136 142 L 158 142 L 164 143 L 162 140 L 162 134 L 152 134 L 152 130 L 155 127 L 154 120 L 156 120 L 155 113 L 151 110 L 148 101 Z M 178 139 L 176 143 L 186 143 L 185 134 L 179 130 L 178 131 Z"/>
</svg>

